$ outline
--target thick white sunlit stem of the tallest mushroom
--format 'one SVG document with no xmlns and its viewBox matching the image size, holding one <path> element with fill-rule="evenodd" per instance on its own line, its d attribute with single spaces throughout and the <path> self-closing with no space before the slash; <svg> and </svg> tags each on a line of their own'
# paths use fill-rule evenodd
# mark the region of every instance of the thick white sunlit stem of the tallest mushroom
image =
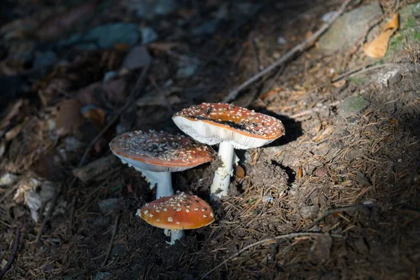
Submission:
<svg viewBox="0 0 420 280">
<path fill-rule="evenodd" d="M 211 200 L 228 195 L 230 176 L 233 174 L 233 163 L 237 161 L 233 145 L 228 141 L 223 141 L 219 145 L 218 157 L 221 159 L 223 166 L 218 167 L 214 172 L 213 183 L 210 188 Z"/>
</svg>

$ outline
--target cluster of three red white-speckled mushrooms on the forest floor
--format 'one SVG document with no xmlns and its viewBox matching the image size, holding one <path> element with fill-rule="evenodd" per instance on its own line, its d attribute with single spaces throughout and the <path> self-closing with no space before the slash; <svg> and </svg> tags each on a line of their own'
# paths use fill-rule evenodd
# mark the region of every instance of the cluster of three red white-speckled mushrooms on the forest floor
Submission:
<svg viewBox="0 0 420 280">
<path fill-rule="evenodd" d="M 214 221 L 209 204 L 196 195 L 174 195 L 171 172 L 181 172 L 216 158 L 207 145 L 219 144 L 211 184 L 211 200 L 228 195 L 233 165 L 239 160 L 234 149 L 258 148 L 284 135 L 280 120 L 232 104 L 203 103 L 181 110 L 172 120 L 195 139 L 167 132 L 127 132 L 109 144 L 120 160 L 137 169 L 156 187 L 156 199 L 137 211 L 146 223 L 163 228 L 171 242 L 183 237 L 183 230 L 201 228 Z M 200 143 L 197 143 L 200 142 Z"/>
</svg>

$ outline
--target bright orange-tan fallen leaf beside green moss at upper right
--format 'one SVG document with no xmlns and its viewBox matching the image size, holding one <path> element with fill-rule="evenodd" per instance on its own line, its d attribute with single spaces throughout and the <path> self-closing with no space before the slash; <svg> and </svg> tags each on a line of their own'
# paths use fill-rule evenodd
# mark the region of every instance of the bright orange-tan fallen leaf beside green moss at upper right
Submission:
<svg viewBox="0 0 420 280">
<path fill-rule="evenodd" d="M 384 57 L 386 50 L 388 50 L 389 38 L 391 38 L 398 27 L 400 27 L 400 22 L 398 20 L 398 13 L 395 13 L 386 24 L 384 31 L 372 42 L 365 45 L 365 55 L 373 58 Z"/>
</svg>

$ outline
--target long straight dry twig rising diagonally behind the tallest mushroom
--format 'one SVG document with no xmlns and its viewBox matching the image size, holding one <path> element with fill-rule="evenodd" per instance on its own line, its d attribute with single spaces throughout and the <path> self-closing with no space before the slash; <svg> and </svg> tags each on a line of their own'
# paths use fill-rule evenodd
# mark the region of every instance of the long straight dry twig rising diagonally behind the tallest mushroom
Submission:
<svg viewBox="0 0 420 280">
<path fill-rule="evenodd" d="M 321 34 L 323 34 L 323 32 L 325 32 L 325 30 L 327 30 L 332 25 L 332 22 L 334 22 L 335 20 L 337 20 L 337 18 L 339 18 L 339 16 L 342 15 L 342 13 L 344 13 L 344 10 L 346 9 L 346 6 L 350 3 L 350 1 L 351 0 L 344 1 L 344 3 L 342 4 L 342 6 L 332 16 L 332 18 L 330 19 L 330 21 L 327 22 L 327 23 L 325 23 L 312 36 L 310 36 L 309 38 L 307 38 L 305 41 L 303 41 L 299 45 L 296 45 L 295 48 L 293 48 L 292 50 L 289 50 L 288 52 L 286 52 L 285 55 L 283 55 L 282 57 L 280 57 L 280 59 L 278 59 L 276 62 L 274 62 L 273 64 L 271 64 L 270 66 L 268 66 L 266 69 L 264 69 L 264 70 L 256 73 L 254 76 L 252 76 L 251 78 L 249 78 L 248 80 L 246 80 L 244 83 L 242 83 L 241 85 L 239 85 L 239 87 L 235 88 L 234 90 L 231 90 L 229 92 L 228 96 L 225 97 L 222 100 L 222 102 L 223 103 L 231 102 L 233 99 L 235 99 L 237 97 L 237 95 L 239 94 L 239 92 L 241 92 L 241 90 L 244 90 L 246 87 L 248 87 L 248 85 L 251 85 L 256 80 L 259 80 L 265 74 L 271 72 L 273 69 L 276 69 L 278 66 L 280 66 L 284 62 L 287 62 L 289 59 L 291 59 L 292 57 L 294 57 L 298 52 L 302 52 L 305 49 L 307 49 L 309 46 L 311 46 L 318 39 L 318 37 L 321 36 Z"/>
</svg>

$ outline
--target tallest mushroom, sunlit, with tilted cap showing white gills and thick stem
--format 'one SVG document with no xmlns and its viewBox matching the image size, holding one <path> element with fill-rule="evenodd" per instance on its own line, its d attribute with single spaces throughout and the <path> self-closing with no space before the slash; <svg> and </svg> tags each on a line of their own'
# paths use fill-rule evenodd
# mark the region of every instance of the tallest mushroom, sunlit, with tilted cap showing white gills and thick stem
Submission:
<svg viewBox="0 0 420 280">
<path fill-rule="evenodd" d="M 202 103 L 176 113 L 172 120 L 186 134 L 209 145 L 220 144 L 223 162 L 211 184 L 211 198 L 228 195 L 234 148 L 258 148 L 284 135 L 281 120 L 232 104 Z M 216 196 L 216 197 L 215 197 Z"/>
</svg>

